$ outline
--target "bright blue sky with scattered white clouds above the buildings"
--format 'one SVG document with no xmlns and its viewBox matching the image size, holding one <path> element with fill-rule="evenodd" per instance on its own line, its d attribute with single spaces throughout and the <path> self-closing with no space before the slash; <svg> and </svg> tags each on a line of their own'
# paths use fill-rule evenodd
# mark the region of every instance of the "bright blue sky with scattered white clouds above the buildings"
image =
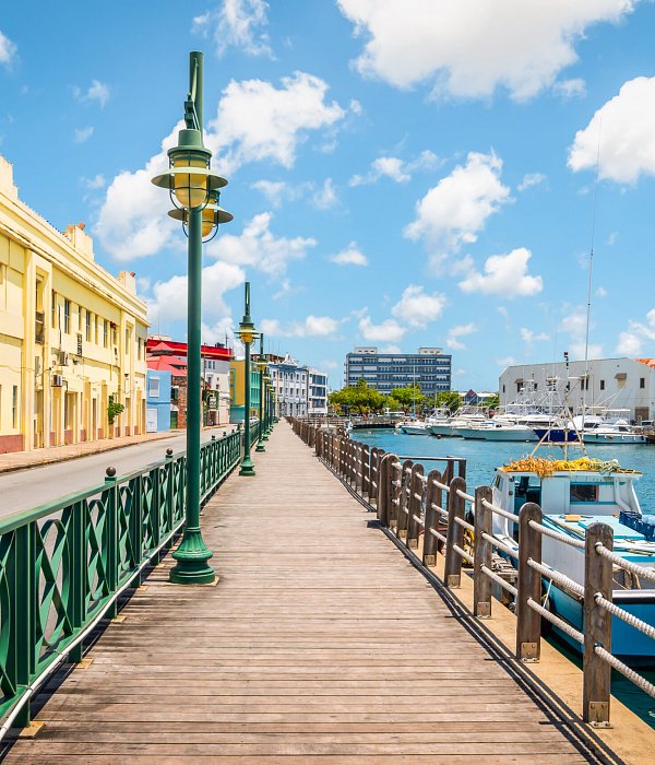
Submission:
<svg viewBox="0 0 655 765">
<path fill-rule="evenodd" d="M 150 177 L 205 54 L 205 141 L 235 214 L 205 248 L 204 337 L 252 283 L 266 345 L 453 354 L 453 385 L 655 355 L 650 0 L 37 1 L 0 11 L 0 154 L 21 198 L 139 278 L 184 337 L 186 239 Z M 599 181 L 594 187 L 599 146 Z"/>
</svg>

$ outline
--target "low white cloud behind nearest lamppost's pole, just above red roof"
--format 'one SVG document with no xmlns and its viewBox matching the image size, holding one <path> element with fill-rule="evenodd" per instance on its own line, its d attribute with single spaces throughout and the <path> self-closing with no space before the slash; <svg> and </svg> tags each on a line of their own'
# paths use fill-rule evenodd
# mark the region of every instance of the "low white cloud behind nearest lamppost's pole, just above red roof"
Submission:
<svg viewBox="0 0 655 765">
<path fill-rule="evenodd" d="M 243 270 L 231 263 L 217 261 L 202 269 L 202 313 L 209 321 L 224 320 L 229 316 L 223 296 L 246 281 Z M 187 276 L 175 275 L 156 282 L 151 295 L 146 296 L 148 320 L 154 326 L 158 322 L 166 327 L 174 321 L 187 318 Z"/>
</svg>

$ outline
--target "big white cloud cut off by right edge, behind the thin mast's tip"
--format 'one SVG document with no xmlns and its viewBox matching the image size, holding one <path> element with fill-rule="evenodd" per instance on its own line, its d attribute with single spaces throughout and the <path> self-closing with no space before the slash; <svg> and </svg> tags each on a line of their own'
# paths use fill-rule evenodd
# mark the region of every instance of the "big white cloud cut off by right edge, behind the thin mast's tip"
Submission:
<svg viewBox="0 0 655 765">
<path fill-rule="evenodd" d="M 599 138 L 599 178 L 635 184 L 642 175 L 655 175 L 655 76 L 623 83 L 575 133 L 569 152 L 572 170 L 595 169 Z"/>
</svg>

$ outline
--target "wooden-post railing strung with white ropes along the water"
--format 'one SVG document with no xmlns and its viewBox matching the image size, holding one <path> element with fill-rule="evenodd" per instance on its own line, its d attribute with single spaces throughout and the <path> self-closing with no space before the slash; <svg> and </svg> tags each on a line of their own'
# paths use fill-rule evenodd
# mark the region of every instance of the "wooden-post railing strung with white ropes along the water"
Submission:
<svg viewBox="0 0 655 765">
<path fill-rule="evenodd" d="M 655 697 L 655 685 L 608 650 L 612 617 L 655 639 L 653 625 L 612 601 L 614 570 L 623 569 L 655 581 L 655 568 L 639 566 L 617 554 L 611 527 L 592 523 L 584 539 L 568 536 L 563 529 L 552 528 L 552 521 L 544 522 L 541 509 L 534 503 L 524 504 L 516 514 L 495 504 L 489 486 L 468 492 L 461 458 L 400 457 L 356 442 L 341 428 L 300 427 L 297 422 L 291 419 L 297 435 L 361 496 L 398 543 L 426 568 L 443 560 L 442 578 L 449 589 L 461 587 L 463 564 L 472 567 L 476 617 L 491 616 L 492 585 L 498 588 L 497 595 L 502 591 L 513 599 L 517 659 L 539 660 L 543 622 L 584 646 L 583 699 L 593 699 L 583 703 L 585 721 L 609 723 L 612 669 Z M 445 468 L 425 473 L 422 461 L 443 461 Z M 495 533 L 495 516 L 513 526 L 508 526 L 504 533 Z M 544 538 L 580 551 L 576 554 L 584 557 L 584 584 L 547 565 L 541 557 Z M 551 587 L 577 601 L 580 613 L 585 614 L 584 633 L 553 611 Z"/>
</svg>

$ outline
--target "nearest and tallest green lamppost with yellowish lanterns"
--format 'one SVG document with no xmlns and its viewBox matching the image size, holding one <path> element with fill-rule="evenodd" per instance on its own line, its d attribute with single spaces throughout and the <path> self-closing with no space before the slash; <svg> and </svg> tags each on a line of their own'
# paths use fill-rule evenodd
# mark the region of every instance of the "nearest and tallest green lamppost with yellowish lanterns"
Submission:
<svg viewBox="0 0 655 765">
<path fill-rule="evenodd" d="M 201 429 L 201 297 L 202 243 L 216 235 L 219 223 L 233 220 L 218 207 L 218 189 L 227 180 L 210 168 L 212 152 L 202 137 L 202 54 L 190 55 L 189 93 L 184 102 L 184 123 L 178 145 L 168 150 L 169 169 L 153 178 L 168 190 L 175 205 L 168 214 L 182 222 L 189 237 L 187 285 L 187 504 L 182 542 L 172 553 L 177 565 L 170 581 L 202 585 L 214 580 L 207 561 L 212 551 L 200 530 L 200 429 Z"/>
</svg>

